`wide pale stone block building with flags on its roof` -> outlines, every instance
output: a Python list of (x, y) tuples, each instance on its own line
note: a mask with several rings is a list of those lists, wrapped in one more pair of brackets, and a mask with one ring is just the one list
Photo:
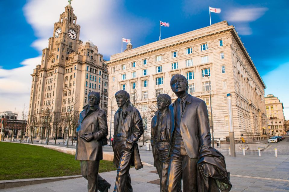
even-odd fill
[[(112, 116), (118, 109), (115, 92), (128, 91), (132, 104), (143, 116), (146, 139), (150, 137), (150, 122), (157, 110), (156, 97), (167, 93), (172, 101), (177, 98), (170, 87), (175, 74), (184, 75), (189, 81), (188, 92), (206, 102), (210, 120), (212, 105), (215, 140), (229, 137), (228, 93), (232, 94), (235, 140), (240, 140), (241, 134), (248, 141), (268, 137), (266, 86), (234, 26), (226, 21), (134, 49), (129, 45), (125, 52), (111, 55), (106, 64)], [(110, 110), (109, 105), (108, 119)]]

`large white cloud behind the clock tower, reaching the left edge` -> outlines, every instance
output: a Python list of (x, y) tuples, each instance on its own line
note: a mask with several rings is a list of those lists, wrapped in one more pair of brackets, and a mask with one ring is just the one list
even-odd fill
[[(48, 46), (54, 23), (59, 21), (59, 15), (67, 4), (67, 0), (30, 0), (24, 5), (24, 16), (37, 38), (31, 46), (40, 54)], [(134, 40), (143, 38), (153, 26), (149, 20), (126, 10), (121, 1), (79, 0), (72, 1), (72, 6), (77, 24), (81, 26), (80, 39), (92, 41), (106, 58), (120, 52), (121, 37), (131, 38), (134, 45)], [(21, 111), (24, 103), (29, 104), (30, 74), (40, 62), (41, 56), (25, 59), (21, 62), (23, 67), (11, 70), (0, 66), (0, 111), (12, 111), (15, 107)]]

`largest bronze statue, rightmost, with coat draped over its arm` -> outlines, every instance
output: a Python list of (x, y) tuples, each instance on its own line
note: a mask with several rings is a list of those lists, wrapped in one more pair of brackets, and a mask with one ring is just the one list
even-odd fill
[[(189, 88), (188, 80), (183, 75), (174, 75), (170, 84), (172, 91), (177, 95), (177, 100), (169, 106), (171, 130), (168, 155), (171, 159), (168, 170), (167, 190), (168, 192), (176, 192), (179, 188), (180, 180), (183, 179), (184, 192), (198, 191), (198, 187), (203, 189), (200, 191), (217, 191), (218, 189), (215, 187), (209, 188), (215, 182), (215, 180), (212, 182), (212, 177), (210, 176), (216, 176), (213, 170), (217, 172), (216, 169), (218, 167), (226, 166), (225, 161), (218, 161), (219, 157), (215, 153), (217, 150), (213, 151), (210, 149), (211, 134), (206, 103), (187, 93)], [(199, 154), (202, 155), (199, 156)], [(209, 156), (210, 159), (208, 160)], [(206, 157), (205, 160), (203, 159), (204, 157)], [(199, 162), (198, 159), (200, 160)], [(209, 165), (209, 162), (212, 162), (215, 166)], [(202, 170), (206, 170), (203, 178), (200, 173)], [(228, 176), (226, 169), (224, 176)], [(202, 180), (205, 177), (210, 179), (205, 182)], [(226, 181), (228, 182), (228, 180)], [(222, 180), (221, 182), (224, 181)], [(229, 187), (230, 183), (218, 186), (225, 186), (225, 188), (227, 186), (226, 190), (231, 189)]]

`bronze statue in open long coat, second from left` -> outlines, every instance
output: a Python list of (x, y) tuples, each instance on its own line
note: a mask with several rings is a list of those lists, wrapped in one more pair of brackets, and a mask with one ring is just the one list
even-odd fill
[(140, 112), (130, 105), (130, 95), (127, 91), (120, 90), (115, 93), (118, 110), (114, 118), (114, 138), (112, 149), (113, 162), (117, 167), (117, 176), (114, 192), (132, 192), (130, 179), (130, 166), (141, 169), (137, 141), (143, 134), (143, 120)]

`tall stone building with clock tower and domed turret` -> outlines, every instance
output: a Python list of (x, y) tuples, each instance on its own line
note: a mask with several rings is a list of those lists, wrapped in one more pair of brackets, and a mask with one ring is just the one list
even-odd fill
[[(107, 112), (108, 70), (103, 55), (91, 41), (79, 39), (80, 25), (73, 10), (67, 5), (54, 23), (48, 47), (31, 74), (27, 134), (38, 139), (66, 137), (91, 91), (100, 93), (100, 107)], [(75, 133), (71, 130), (69, 135)]]

